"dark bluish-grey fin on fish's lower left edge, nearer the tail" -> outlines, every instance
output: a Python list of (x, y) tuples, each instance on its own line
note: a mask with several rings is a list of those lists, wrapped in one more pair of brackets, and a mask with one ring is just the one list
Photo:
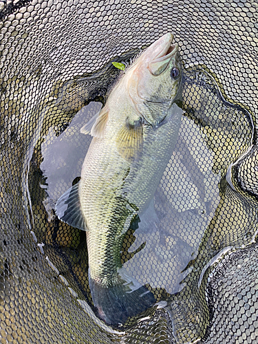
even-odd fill
[(80, 208), (80, 200), (78, 195), (79, 184), (68, 189), (56, 203), (56, 215), (63, 222), (70, 226), (87, 230), (85, 217)]

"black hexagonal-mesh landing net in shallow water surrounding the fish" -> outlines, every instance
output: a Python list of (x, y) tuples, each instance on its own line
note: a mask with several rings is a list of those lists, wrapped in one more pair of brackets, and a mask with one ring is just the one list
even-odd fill
[[(0, 1), (1, 343), (258, 343), (257, 8)], [(129, 65), (166, 32), (184, 116), (158, 226), (132, 226), (121, 251), (158, 305), (114, 328), (94, 312), (85, 232), (54, 204), (78, 182), (91, 140), (80, 127), (120, 76), (111, 61)]]

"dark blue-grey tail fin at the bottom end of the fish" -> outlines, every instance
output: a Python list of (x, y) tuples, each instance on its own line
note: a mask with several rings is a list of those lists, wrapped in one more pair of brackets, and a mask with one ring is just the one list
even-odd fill
[[(120, 269), (122, 270), (122, 269)], [(125, 323), (131, 316), (136, 316), (155, 303), (155, 297), (135, 280), (105, 288), (89, 277), (89, 288), (98, 316), (109, 325)]]

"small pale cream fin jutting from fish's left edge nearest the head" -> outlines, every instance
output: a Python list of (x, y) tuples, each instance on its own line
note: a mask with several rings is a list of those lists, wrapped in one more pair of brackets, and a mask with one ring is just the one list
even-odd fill
[(103, 138), (107, 123), (109, 109), (105, 106), (89, 122), (87, 122), (81, 129), (81, 133), (90, 133), (95, 138)]

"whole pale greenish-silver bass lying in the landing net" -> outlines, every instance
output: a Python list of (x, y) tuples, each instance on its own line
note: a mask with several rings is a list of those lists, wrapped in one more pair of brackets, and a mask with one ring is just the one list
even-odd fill
[(89, 288), (98, 316), (109, 325), (155, 303), (122, 267), (120, 251), (130, 224), (155, 215), (149, 207), (178, 138), (182, 61), (172, 42), (167, 33), (147, 47), (82, 127), (93, 139), (80, 182), (56, 203), (59, 219), (86, 231)]

